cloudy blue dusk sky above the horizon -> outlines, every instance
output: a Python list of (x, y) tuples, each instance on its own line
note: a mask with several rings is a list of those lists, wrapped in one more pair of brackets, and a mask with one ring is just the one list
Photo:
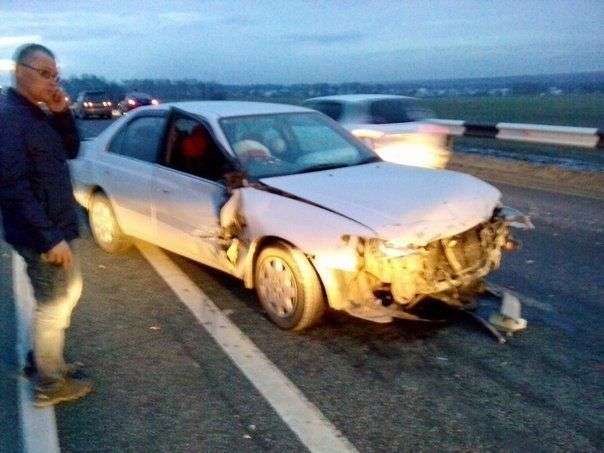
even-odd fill
[(0, 1), (0, 84), (40, 42), (66, 76), (227, 84), (604, 70), (602, 0)]

